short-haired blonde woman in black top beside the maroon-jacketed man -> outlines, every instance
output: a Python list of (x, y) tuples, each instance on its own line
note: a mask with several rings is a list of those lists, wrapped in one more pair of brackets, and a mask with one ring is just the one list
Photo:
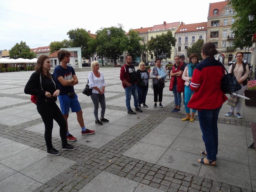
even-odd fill
[(137, 92), (138, 92), (138, 107), (141, 108), (141, 104), (143, 104), (144, 107), (148, 107), (146, 105), (146, 96), (148, 94), (148, 78), (149, 74), (145, 70), (145, 63), (141, 62), (139, 64), (139, 69), (136, 71), (136, 76), (138, 78), (138, 82), (136, 84)]

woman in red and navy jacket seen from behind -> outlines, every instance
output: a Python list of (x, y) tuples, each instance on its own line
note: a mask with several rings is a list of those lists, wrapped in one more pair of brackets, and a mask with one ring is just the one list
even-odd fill
[(224, 73), (222, 64), (214, 58), (218, 51), (211, 42), (202, 47), (202, 63), (196, 66), (190, 83), (195, 91), (188, 107), (198, 110), (198, 119), (206, 151), (200, 154), (207, 158), (198, 159), (203, 165), (216, 166), (218, 154), (218, 114), (222, 104), (228, 99), (221, 90)]

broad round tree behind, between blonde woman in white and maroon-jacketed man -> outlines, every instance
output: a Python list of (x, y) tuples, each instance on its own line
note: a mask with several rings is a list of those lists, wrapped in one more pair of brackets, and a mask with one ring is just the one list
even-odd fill
[(114, 60), (124, 53), (127, 48), (128, 37), (125, 35), (122, 25), (118, 27), (102, 28), (96, 32), (96, 52)]

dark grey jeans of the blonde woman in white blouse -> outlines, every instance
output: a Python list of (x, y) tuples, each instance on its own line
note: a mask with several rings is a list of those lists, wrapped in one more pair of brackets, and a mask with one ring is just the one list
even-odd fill
[(100, 103), (100, 107), (101, 107), (100, 117), (104, 118), (105, 110), (106, 110), (105, 95), (104, 94), (100, 95), (98, 93), (92, 93), (91, 98), (92, 98), (92, 102), (94, 104), (93, 114), (94, 114), (95, 120), (99, 120), (99, 118), (98, 118), (99, 103)]

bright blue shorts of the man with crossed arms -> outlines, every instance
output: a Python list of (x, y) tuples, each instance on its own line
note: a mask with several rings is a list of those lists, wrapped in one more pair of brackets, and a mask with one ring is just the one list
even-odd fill
[(72, 112), (78, 112), (81, 110), (80, 103), (78, 102), (77, 95), (74, 98), (69, 98), (68, 95), (59, 95), (58, 96), (60, 101), (60, 109), (62, 114), (68, 114), (69, 108), (71, 108)]

